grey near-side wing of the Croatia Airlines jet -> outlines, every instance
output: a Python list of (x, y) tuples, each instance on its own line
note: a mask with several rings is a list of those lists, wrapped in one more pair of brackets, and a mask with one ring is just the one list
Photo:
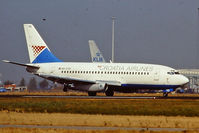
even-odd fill
[(105, 83), (107, 85), (112, 86), (121, 86), (121, 83), (118, 81), (102, 81), (102, 80), (83, 80), (79, 78), (72, 78), (72, 77), (62, 77), (62, 76), (54, 76), (54, 75), (45, 75), (45, 74), (38, 74), (38, 76), (42, 78), (46, 78), (48, 80), (61, 83), (61, 84), (97, 84), (97, 83)]

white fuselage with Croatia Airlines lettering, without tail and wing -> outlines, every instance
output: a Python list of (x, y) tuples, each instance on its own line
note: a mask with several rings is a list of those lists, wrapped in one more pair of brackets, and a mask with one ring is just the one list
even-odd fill
[(137, 63), (39, 63), (35, 74), (48, 74), (89, 81), (118, 81), (121, 87), (177, 88), (188, 82), (175, 69)]

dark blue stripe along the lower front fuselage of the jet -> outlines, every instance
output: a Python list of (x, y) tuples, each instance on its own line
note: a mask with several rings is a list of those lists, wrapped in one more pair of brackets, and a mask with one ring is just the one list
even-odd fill
[(170, 89), (170, 88), (178, 88), (179, 85), (122, 84), (122, 87)]

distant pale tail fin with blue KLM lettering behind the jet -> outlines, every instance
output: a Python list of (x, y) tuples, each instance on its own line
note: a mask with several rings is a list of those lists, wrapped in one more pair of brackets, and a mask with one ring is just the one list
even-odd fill
[(106, 62), (95, 41), (89, 40), (89, 47), (91, 53), (92, 62)]

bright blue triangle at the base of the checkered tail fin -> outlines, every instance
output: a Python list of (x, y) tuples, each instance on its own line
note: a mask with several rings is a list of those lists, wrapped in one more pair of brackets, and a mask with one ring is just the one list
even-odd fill
[(62, 62), (55, 57), (47, 48), (42, 51), (32, 63)]

